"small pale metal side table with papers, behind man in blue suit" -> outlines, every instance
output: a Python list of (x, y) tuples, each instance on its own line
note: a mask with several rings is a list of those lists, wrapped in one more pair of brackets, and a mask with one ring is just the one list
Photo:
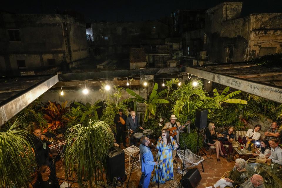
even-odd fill
[[(138, 167), (141, 169), (141, 163), (140, 163), (140, 153), (139, 153), (139, 148), (132, 145), (130, 146), (132, 148), (132, 151), (129, 152), (127, 149), (123, 149), (124, 154), (125, 154), (125, 163), (128, 162), (128, 167), (125, 169), (125, 172), (127, 174), (130, 174), (131, 170), (132, 170), (132, 166), (135, 165), (135, 168)], [(132, 157), (135, 157), (137, 159), (137, 161), (133, 162)]]

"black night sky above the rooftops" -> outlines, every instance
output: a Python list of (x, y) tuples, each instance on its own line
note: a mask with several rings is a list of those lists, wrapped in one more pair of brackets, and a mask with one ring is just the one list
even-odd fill
[[(18, 0), (16, 0), (18, 1)], [(85, 16), (85, 20), (107, 21), (142, 21), (157, 20), (169, 16), (175, 10), (206, 9), (223, 2), (223, 0), (6, 0), (2, 11), (20, 14), (54, 14), (56, 9), (76, 10)], [(243, 0), (242, 16), (251, 13), (282, 12), (282, 0)]]

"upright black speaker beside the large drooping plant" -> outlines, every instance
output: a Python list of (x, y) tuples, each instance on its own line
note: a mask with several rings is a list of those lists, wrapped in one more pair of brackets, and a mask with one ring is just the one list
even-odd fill
[(107, 157), (107, 178), (113, 182), (114, 177), (125, 176), (124, 151), (119, 147), (113, 147)]

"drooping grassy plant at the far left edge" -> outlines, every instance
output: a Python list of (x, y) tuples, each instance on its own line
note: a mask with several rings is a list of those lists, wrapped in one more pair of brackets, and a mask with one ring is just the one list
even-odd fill
[(27, 141), (27, 132), (18, 128), (24, 116), (17, 118), (6, 132), (0, 132), (0, 187), (29, 187), (36, 161)]

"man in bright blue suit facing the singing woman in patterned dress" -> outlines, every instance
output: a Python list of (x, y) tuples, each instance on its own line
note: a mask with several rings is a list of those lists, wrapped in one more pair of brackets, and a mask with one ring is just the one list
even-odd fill
[(141, 156), (142, 175), (138, 187), (148, 188), (152, 171), (154, 169), (154, 166), (157, 165), (157, 162), (154, 161), (154, 156), (150, 148), (148, 147), (150, 140), (147, 137), (143, 136), (142, 138), (140, 138), (140, 142), (141, 144), (139, 146), (139, 149)]

